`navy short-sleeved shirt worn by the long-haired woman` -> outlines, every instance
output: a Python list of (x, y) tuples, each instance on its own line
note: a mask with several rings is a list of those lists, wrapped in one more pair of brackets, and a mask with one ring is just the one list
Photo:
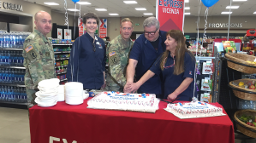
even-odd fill
[[(188, 52), (185, 54), (184, 59), (185, 71), (182, 72), (180, 75), (173, 74), (175, 66), (168, 67), (174, 63), (174, 59), (170, 56), (170, 54), (164, 64), (165, 68), (163, 71), (160, 68), (161, 57), (159, 57), (158, 60), (156, 60), (156, 62), (154, 63), (154, 65), (151, 67), (150, 71), (154, 72), (157, 75), (160, 75), (160, 73), (162, 73), (163, 75), (164, 99), (166, 99), (169, 94), (173, 93), (181, 85), (181, 83), (186, 77), (194, 78), (195, 60), (191, 58)], [(179, 94), (177, 96), (177, 98), (179, 98), (177, 100), (190, 100), (193, 97), (193, 83), (194, 80), (192, 83), (190, 83), (188, 89), (184, 90), (182, 94)], [(197, 96), (196, 89), (194, 95)]]

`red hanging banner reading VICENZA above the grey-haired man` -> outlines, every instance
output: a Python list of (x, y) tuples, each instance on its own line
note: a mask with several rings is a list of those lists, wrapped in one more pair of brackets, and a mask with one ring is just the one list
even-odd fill
[(184, 7), (184, 0), (157, 0), (156, 17), (160, 22), (160, 30), (183, 31)]

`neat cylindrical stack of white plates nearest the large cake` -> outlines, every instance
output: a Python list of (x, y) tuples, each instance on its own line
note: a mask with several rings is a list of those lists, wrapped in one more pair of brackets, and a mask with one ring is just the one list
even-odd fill
[(65, 101), (68, 105), (80, 105), (83, 100), (83, 84), (77, 82), (65, 83)]

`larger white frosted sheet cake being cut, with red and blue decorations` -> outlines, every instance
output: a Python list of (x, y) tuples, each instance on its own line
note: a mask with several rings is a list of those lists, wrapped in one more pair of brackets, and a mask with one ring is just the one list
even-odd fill
[(155, 94), (124, 94), (112, 91), (97, 94), (87, 104), (87, 108), (93, 109), (156, 112), (159, 100)]

